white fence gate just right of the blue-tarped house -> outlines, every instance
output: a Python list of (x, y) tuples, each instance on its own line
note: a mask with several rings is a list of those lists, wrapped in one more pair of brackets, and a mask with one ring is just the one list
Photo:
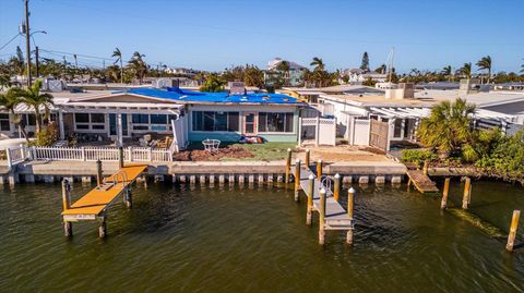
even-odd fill
[(336, 145), (336, 119), (300, 118), (298, 145), (302, 144), (302, 127), (314, 126), (314, 145)]

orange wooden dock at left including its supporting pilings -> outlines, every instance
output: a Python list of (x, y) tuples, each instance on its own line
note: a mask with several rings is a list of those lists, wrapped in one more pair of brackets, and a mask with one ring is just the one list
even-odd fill
[[(62, 211), (66, 235), (72, 234), (71, 222), (100, 221), (100, 236), (105, 236), (105, 221), (107, 208), (121, 195), (124, 194), (124, 203), (131, 207), (131, 184), (146, 172), (146, 164), (128, 164), (118, 172), (106, 178), (91, 192), (82, 196), (74, 204), (68, 203), (69, 191), (64, 187), (64, 207)], [(68, 184), (66, 182), (66, 184)]]

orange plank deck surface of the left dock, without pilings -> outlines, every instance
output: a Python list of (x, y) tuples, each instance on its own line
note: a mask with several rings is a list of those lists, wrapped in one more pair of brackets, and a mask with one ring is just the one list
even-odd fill
[(147, 169), (146, 164), (130, 164), (106, 178), (102, 186), (82, 196), (62, 212), (64, 221), (96, 220), (120, 194)]

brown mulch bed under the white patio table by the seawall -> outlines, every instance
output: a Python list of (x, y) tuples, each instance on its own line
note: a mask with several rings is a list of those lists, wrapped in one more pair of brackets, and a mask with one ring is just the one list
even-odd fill
[(218, 149), (218, 151), (210, 152), (203, 149), (184, 150), (176, 154), (176, 161), (219, 161), (222, 158), (252, 158), (254, 157), (249, 150), (241, 147), (228, 146)]

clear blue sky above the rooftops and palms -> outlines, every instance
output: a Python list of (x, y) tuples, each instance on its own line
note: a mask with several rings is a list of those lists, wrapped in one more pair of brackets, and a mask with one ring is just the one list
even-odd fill
[[(524, 0), (29, 0), (34, 41), (40, 56), (98, 66), (120, 48), (147, 63), (221, 71), (231, 65), (265, 69), (275, 57), (329, 70), (454, 69), (491, 56), (493, 72), (524, 63)], [(0, 47), (19, 32), (23, 0), (0, 0)], [(8, 59), (25, 50), (16, 37), (0, 50)], [(64, 52), (64, 53), (62, 53)], [(88, 57), (98, 58), (88, 58)]]

